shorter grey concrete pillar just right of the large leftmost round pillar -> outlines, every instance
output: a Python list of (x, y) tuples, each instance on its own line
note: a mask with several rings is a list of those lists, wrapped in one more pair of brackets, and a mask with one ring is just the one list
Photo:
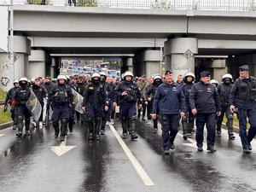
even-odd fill
[(31, 50), (29, 60), (29, 78), (44, 77), (46, 66), (46, 55), (44, 50)]

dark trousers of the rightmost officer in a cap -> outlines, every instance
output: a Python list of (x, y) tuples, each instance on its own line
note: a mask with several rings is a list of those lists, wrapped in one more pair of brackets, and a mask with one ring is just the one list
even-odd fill
[[(247, 133), (247, 118), (249, 119), (250, 129)], [(240, 109), (238, 108), (239, 136), (241, 138), (242, 148), (248, 148), (250, 142), (256, 136), (256, 108)]]

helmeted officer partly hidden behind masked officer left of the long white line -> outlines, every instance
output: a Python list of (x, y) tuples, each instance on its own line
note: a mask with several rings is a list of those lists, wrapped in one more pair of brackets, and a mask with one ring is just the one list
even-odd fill
[(108, 93), (108, 102), (109, 102), (109, 110), (103, 110), (102, 114), (102, 127), (101, 127), (101, 135), (105, 135), (105, 126), (108, 121), (110, 122), (110, 109), (111, 109), (111, 104), (113, 101), (113, 90), (110, 84), (108, 84), (107, 80), (107, 74), (104, 72), (100, 73), (101, 75), (101, 84), (103, 85), (104, 89), (107, 90)]

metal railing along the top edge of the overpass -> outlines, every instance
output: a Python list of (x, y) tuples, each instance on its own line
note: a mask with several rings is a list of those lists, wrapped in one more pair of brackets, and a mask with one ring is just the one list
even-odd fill
[[(256, 0), (13, 0), (14, 4), (106, 7), (116, 9), (170, 9), (256, 11)], [(0, 0), (8, 5), (10, 0)]]

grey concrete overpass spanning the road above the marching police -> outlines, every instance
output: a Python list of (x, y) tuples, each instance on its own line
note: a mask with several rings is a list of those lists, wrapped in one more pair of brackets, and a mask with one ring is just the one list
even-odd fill
[[(133, 61), (129, 60), (134, 72), (150, 75), (160, 72), (163, 42), (166, 68), (175, 73), (194, 71), (196, 55), (232, 57), (252, 55), (256, 49), (253, 12), (40, 5), (13, 8), (15, 52), (24, 58), (15, 62), (20, 72), (15, 76), (50, 73), (49, 67), (53, 70), (55, 65), (49, 54), (134, 54)], [(156, 44), (145, 43), (155, 39)], [(29, 47), (32, 51), (24, 49)], [(252, 59), (247, 62), (253, 63)], [(223, 70), (226, 65), (211, 67)]]

